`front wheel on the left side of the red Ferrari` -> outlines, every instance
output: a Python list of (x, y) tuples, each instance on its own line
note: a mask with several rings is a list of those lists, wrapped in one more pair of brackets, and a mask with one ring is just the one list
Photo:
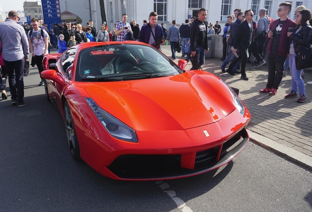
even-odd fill
[(73, 159), (80, 160), (80, 149), (78, 138), (75, 132), (74, 122), (72, 118), (72, 113), (67, 101), (64, 104), (64, 122), (65, 122), (65, 130), (68, 141), (69, 150)]

